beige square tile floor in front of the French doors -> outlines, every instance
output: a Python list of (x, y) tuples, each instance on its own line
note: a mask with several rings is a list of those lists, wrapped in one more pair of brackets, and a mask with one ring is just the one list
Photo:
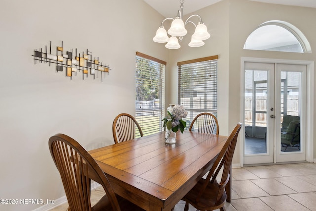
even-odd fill
[[(316, 163), (232, 169), (232, 202), (227, 211), (316, 211)], [(93, 200), (104, 191), (92, 191)], [(183, 211), (180, 201), (174, 211)], [(51, 211), (66, 211), (67, 203)], [(192, 206), (189, 211), (196, 211)], [(216, 210), (218, 211), (218, 210)]]

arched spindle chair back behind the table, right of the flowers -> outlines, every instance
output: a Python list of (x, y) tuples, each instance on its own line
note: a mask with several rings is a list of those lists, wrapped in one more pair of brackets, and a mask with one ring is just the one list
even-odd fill
[(218, 135), (217, 118), (211, 113), (200, 113), (192, 120), (189, 131)]

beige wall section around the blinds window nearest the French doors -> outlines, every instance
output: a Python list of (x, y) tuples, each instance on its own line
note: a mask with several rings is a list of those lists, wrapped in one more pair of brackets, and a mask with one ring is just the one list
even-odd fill
[[(185, 36), (182, 42), (180, 42), (181, 48), (179, 50), (170, 51), (170, 65), (168, 65), (168, 71), (166, 76), (170, 77), (167, 81), (166, 90), (169, 90), (172, 103), (178, 102), (178, 67), (177, 62), (186, 61), (196, 58), (202, 58), (207, 56), (218, 55), (218, 121), (220, 124), (220, 134), (228, 134), (228, 74), (229, 74), (229, 2), (221, 1), (212, 6), (206, 7), (202, 10), (195, 12), (202, 17), (202, 21), (206, 24), (211, 37), (205, 40), (205, 45), (198, 48), (189, 47), (188, 44), (191, 39), (191, 35), (194, 32), (194, 28), (190, 28), (188, 25), (188, 34)], [(185, 8), (184, 8), (185, 9)], [(188, 14), (185, 18), (189, 17)], [(198, 22), (199, 19), (192, 19)], [(191, 31), (190, 31), (191, 29)], [(167, 91), (166, 91), (167, 92)]]

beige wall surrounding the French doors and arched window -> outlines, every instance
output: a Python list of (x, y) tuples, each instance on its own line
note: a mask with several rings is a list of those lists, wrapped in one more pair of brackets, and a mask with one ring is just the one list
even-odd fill
[[(265, 4), (244, 0), (230, 0), (230, 35), (229, 35), (229, 118), (228, 127), (233, 128), (240, 120), (240, 77), (241, 57), (307, 60), (316, 58), (316, 27), (313, 20), (316, 18), (315, 8), (297, 6), (283, 6)], [(293, 24), (307, 37), (312, 47), (312, 53), (286, 53), (243, 50), (243, 45), (249, 34), (260, 24), (270, 20), (281, 20)], [(313, 70), (314, 71), (314, 70)], [(315, 74), (314, 74), (315, 76)], [(313, 80), (313, 82), (315, 79)], [(315, 86), (314, 86), (315, 89)], [(315, 93), (313, 91), (312, 93)], [(315, 100), (315, 99), (314, 99)], [(314, 103), (315, 110), (315, 103)], [(315, 116), (313, 118), (315, 122)], [(242, 120), (240, 120), (242, 121)], [(315, 127), (315, 126), (314, 126)], [(311, 131), (314, 129), (311, 128)], [(315, 143), (314, 138), (314, 143)], [(309, 141), (309, 140), (306, 140)], [(240, 144), (240, 143), (239, 143)], [(240, 148), (236, 147), (233, 163), (240, 163)], [(314, 144), (314, 158), (316, 150)]]

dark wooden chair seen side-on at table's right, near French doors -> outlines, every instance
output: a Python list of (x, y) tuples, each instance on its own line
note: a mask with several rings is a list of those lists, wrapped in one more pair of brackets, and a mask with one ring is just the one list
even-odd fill
[[(196, 209), (201, 211), (209, 211), (220, 209), (224, 211), (224, 203), (226, 201), (225, 186), (230, 178), (230, 170), (232, 158), (237, 142), (237, 137), (242, 124), (238, 123), (222, 150), (216, 158), (207, 177), (201, 178), (197, 184), (182, 198), (186, 202), (184, 210), (188, 211), (189, 203)], [(218, 173), (222, 170), (222, 175)], [(216, 177), (219, 176), (220, 182), (217, 182)]]

